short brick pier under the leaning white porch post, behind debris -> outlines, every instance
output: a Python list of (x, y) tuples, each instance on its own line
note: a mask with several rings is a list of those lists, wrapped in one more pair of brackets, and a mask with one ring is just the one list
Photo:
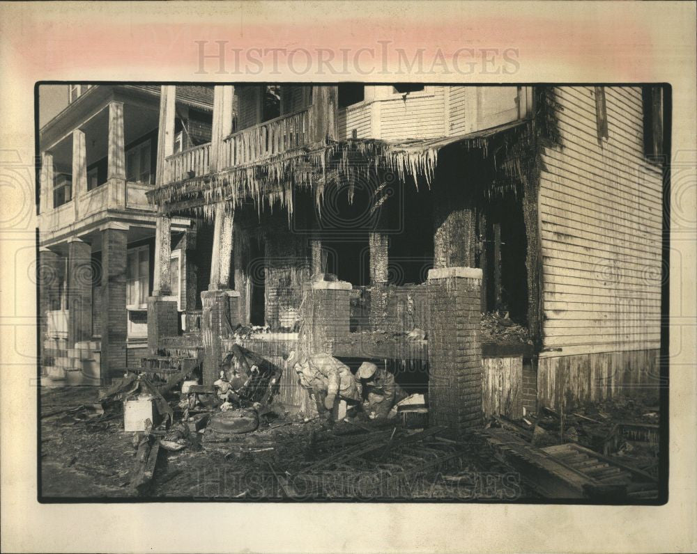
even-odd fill
[(218, 378), (224, 356), (222, 339), (227, 338), (240, 323), (240, 293), (234, 290), (201, 292), (201, 341), (204, 344), (204, 384)]

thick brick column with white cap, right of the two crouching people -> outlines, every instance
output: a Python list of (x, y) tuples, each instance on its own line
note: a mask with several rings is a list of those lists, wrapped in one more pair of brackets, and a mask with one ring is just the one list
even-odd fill
[(429, 271), (429, 424), (454, 436), (483, 421), (481, 285), (481, 269)]

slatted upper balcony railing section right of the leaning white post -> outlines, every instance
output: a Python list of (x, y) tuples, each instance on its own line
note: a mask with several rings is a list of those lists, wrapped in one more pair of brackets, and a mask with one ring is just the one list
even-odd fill
[(224, 139), (221, 167), (231, 168), (308, 145), (310, 107), (247, 127)]

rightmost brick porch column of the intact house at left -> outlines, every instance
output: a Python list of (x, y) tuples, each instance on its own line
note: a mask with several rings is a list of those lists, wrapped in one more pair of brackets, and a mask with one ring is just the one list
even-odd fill
[(126, 244), (128, 230), (102, 230), (102, 383), (126, 367)]

